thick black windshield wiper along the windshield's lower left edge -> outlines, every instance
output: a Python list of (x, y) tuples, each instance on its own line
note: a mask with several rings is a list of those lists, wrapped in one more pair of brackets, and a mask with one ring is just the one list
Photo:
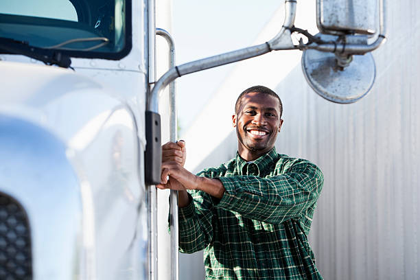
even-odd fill
[(0, 37), (0, 50), (8, 51), (10, 54), (21, 54), (44, 62), (46, 65), (57, 65), (69, 68), (71, 60), (69, 56), (63, 55), (56, 49), (44, 49), (31, 46), (26, 41), (14, 40), (12, 38)]

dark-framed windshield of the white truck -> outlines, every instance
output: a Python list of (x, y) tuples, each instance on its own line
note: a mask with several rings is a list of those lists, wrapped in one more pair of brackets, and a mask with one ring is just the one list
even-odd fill
[(131, 47), (129, 4), (130, 0), (1, 0), (0, 37), (68, 56), (121, 58)]

